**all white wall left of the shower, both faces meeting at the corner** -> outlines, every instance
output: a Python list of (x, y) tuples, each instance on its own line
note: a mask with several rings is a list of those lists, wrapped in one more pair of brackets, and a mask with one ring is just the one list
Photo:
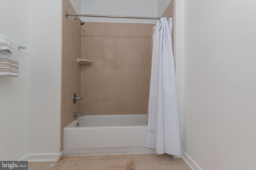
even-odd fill
[(2, 0), (0, 15), (0, 33), (26, 47), (19, 77), (0, 76), (0, 160), (58, 159), (61, 0)]

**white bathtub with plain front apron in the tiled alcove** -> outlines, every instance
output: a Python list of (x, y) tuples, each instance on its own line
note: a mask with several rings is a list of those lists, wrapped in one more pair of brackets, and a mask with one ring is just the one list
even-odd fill
[(64, 154), (156, 153), (146, 131), (147, 115), (86, 115), (64, 127)]

